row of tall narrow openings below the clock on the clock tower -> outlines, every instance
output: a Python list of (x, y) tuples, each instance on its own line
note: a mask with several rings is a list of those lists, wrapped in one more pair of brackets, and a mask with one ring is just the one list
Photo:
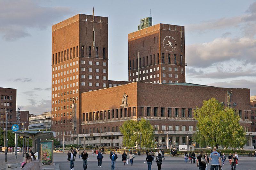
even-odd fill
[[(141, 57), (139, 58), (139, 63), (138, 63), (138, 58), (135, 60), (129, 60), (129, 70), (134, 70), (142, 68), (142, 67), (147, 67), (155, 64), (160, 63), (160, 56), (159, 53), (154, 54), (153, 58), (152, 55), (146, 56), (146, 57)], [(168, 63), (168, 64), (180, 64), (183, 65), (183, 55), (177, 56), (176, 54), (173, 55), (173, 61), (172, 61), (172, 56), (171, 54), (168, 54), (168, 61), (165, 61), (165, 54), (162, 53), (162, 62), (161, 63)]]

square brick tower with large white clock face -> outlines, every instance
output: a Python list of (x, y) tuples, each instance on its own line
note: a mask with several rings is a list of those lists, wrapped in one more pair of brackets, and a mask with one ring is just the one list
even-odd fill
[(185, 83), (184, 38), (184, 26), (169, 24), (129, 33), (129, 82)]

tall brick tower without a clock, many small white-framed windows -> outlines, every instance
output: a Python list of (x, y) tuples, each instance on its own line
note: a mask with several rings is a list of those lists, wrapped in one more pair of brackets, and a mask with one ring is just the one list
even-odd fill
[(60, 135), (64, 130), (66, 144), (81, 133), (81, 93), (126, 83), (108, 80), (107, 17), (93, 11), (52, 26), (52, 131)]

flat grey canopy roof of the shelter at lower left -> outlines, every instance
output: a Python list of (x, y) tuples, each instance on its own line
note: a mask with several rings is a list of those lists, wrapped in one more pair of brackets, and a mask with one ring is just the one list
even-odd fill
[(12, 132), (12, 133), (16, 133), (19, 136), (22, 137), (31, 137), (31, 138), (41, 138), (43, 140), (45, 139), (50, 139), (52, 137), (56, 137), (55, 132), (45, 132), (45, 131), (16, 131), (16, 132)]

